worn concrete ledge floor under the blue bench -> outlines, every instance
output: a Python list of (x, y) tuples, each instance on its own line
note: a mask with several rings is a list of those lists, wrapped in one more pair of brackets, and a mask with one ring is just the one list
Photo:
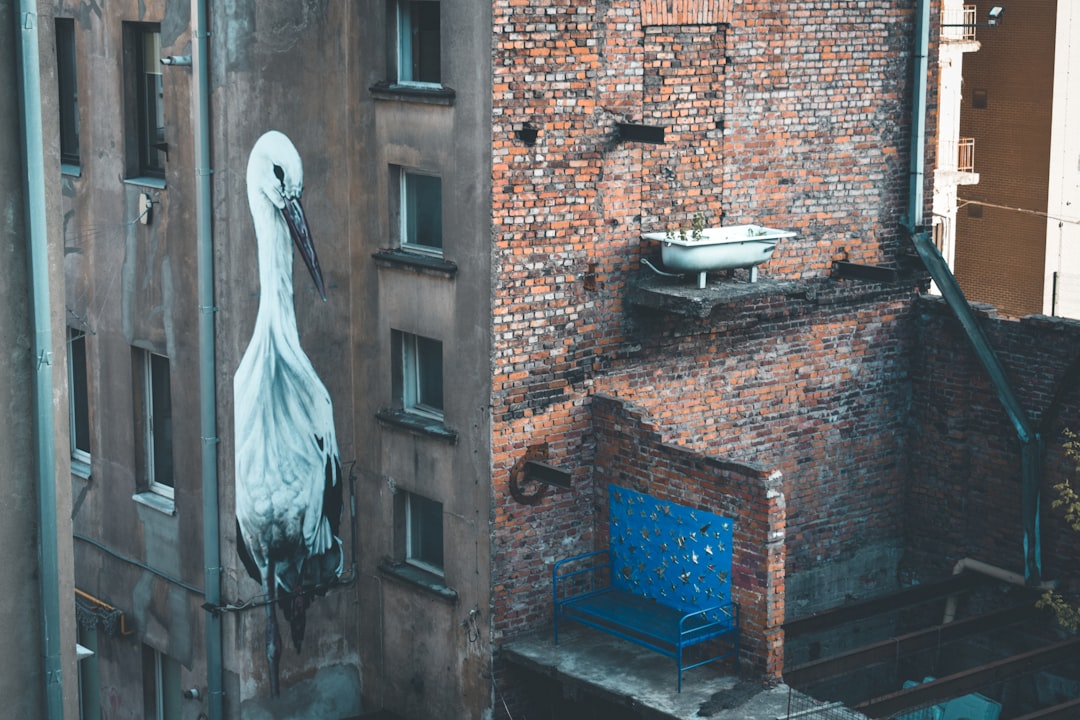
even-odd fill
[[(767, 688), (732, 674), (729, 661), (687, 670), (676, 692), (675, 661), (586, 627), (515, 639), (502, 647), (509, 662), (555, 679), (565, 696), (590, 695), (634, 708), (637, 717), (677, 720), (783, 720), (788, 688)], [(630, 716), (630, 714), (627, 714)], [(631, 716), (632, 717), (632, 716)], [(856, 717), (856, 716), (855, 716)]]

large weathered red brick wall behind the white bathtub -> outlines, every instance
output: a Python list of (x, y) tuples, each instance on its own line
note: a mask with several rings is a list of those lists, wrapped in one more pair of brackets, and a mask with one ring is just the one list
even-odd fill
[[(821, 281), (836, 259), (895, 259), (910, 3), (497, 0), (492, 11), (496, 642), (550, 621), (551, 562), (592, 549), (603, 527), (598, 383), (630, 393), (664, 443), (781, 468), (789, 569), (813, 543), (827, 554), (858, 542), (852, 517), (899, 535), (901, 300), (770, 301), (712, 329), (673, 335), (661, 322), (643, 338), (625, 298), (656, 249), (640, 233), (699, 213), (797, 230), (766, 275)], [(616, 122), (661, 126), (666, 141), (620, 141)], [(518, 138), (525, 127), (534, 145)], [(688, 405), (688, 388), (705, 394)], [(514, 468), (541, 444), (573, 488), (523, 504)], [(769, 613), (782, 602), (750, 606), (770, 608), (747, 621), (772, 668)]]

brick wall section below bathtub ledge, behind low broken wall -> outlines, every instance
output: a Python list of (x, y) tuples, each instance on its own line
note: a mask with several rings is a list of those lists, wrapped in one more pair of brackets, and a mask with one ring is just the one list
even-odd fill
[(910, 296), (815, 290), (643, 323), (639, 364), (596, 383), (647, 411), (665, 441), (780, 470), (788, 572), (903, 538)]

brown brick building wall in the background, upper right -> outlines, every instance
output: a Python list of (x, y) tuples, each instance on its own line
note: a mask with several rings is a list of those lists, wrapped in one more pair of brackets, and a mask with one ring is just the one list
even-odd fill
[[(984, 18), (999, 3), (973, 4)], [(982, 49), (963, 56), (960, 135), (975, 138), (978, 185), (961, 186), (959, 200), (1004, 207), (957, 213), (955, 272), (972, 300), (1025, 315), (1042, 312), (1047, 219), (1005, 208), (1047, 212), (1057, 0), (1015, 10), (999, 27), (978, 28)], [(975, 90), (986, 91), (985, 109), (973, 107)]]

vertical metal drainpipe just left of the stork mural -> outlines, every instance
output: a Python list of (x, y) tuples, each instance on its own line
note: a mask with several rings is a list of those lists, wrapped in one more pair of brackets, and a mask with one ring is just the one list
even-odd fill
[(211, 217), (208, 0), (191, 0), (195, 123), (195, 245), (199, 273), (199, 409), (202, 435), (203, 568), (206, 573), (206, 695), (210, 720), (221, 720), (221, 547), (217, 481), (217, 367), (214, 359), (214, 234)]

